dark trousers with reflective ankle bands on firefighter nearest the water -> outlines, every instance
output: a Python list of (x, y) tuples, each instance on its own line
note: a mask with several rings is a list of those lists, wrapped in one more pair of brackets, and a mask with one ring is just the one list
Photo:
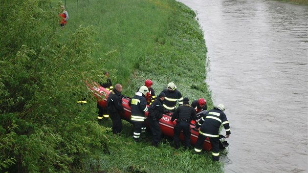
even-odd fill
[[(205, 138), (206, 136), (199, 133), (198, 139), (195, 145), (195, 151), (201, 152)], [(209, 137), (209, 139), (210, 139), (211, 146), (212, 146), (212, 158), (214, 161), (219, 161), (219, 143), (220, 143), (219, 137)]]

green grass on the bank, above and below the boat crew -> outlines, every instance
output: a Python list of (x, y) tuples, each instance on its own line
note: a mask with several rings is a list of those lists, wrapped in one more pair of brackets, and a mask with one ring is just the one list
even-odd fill
[[(56, 1), (52, 4), (56, 6)], [(74, 28), (92, 25), (96, 43), (93, 57), (102, 70), (109, 70), (113, 84), (123, 85), (132, 96), (146, 79), (159, 94), (174, 82), (191, 101), (204, 97), (213, 106), (206, 83), (206, 47), (196, 14), (174, 0), (66, 0), (69, 21), (64, 36)], [(95, 75), (95, 74), (93, 74)], [(110, 122), (102, 124), (111, 127)], [(219, 173), (220, 163), (211, 153), (175, 150), (164, 139), (150, 146), (151, 134), (138, 144), (132, 140), (132, 125), (124, 123), (120, 135), (106, 133), (109, 154), (95, 153), (86, 162), (93, 172), (108, 173)]]

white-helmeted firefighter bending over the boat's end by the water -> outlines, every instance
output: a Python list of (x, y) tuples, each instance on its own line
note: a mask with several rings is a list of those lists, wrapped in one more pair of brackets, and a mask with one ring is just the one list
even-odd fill
[[(212, 146), (212, 158), (214, 161), (219, 161), (220, 125), (222, 124), (226, 131), (226, 138), (228, 138), (231, 134), (229, 122), (223, 112), (224, 110), (224, 105), (219, 104), (214, 109), (207, 111), (196, 126), (199, 130), (199, 135), (196, 142), (195, 151), (200, 153), (202, 151), (204, 139), (209, 137)], [(201, 128), (199, 129), (200, 126)]]

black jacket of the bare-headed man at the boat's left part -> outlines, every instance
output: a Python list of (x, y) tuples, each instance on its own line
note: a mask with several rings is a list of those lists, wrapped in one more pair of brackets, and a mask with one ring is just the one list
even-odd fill
[(119, 93), (115, 88), (110, 92), (107, 99), (108, 112), (124, 111), (122, 106), (122, 97), (122, 94)]

